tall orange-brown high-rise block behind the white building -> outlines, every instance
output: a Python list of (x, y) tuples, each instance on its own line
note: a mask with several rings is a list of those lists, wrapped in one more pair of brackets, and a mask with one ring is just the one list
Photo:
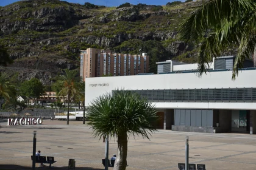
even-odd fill
[(80, 54), (80, 77), (137, 75), (148, 73), (149, 56), (111, 53), (110, 50), (87, 49)]

